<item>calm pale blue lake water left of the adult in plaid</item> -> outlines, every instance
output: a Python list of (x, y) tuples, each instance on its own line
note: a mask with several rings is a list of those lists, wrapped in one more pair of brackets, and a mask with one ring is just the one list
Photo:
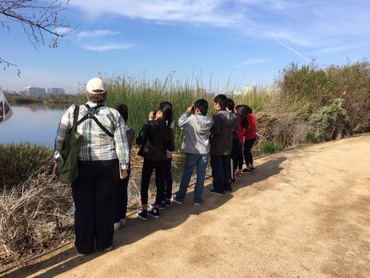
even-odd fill
[(0, 144), (32, 142), (54, 146), (60, 118), (68, 106), (12, 106), (12, 117), (0, 124)]

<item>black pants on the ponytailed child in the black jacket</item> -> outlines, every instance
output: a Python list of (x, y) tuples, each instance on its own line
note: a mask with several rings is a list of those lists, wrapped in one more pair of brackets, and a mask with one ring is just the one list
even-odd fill
[(148, 189), (151, 181), (151, 174), (155, 170), (155, 186), (157, 187), (157, 195), (155, 196), (155, 204), (160, 205), (165, 197), (165, 172), (167, 161), (149, 161), (144, 158), (142, 165), (142, 204), (148, 204)]

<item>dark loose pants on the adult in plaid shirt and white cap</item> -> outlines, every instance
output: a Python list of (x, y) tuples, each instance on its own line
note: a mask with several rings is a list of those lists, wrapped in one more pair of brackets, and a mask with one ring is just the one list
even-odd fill
[(78, 177), (72, 183), (75, 245), (88, 254), (112, 245), (115, 193), (119, 182), (119, 161), (78, 161)]

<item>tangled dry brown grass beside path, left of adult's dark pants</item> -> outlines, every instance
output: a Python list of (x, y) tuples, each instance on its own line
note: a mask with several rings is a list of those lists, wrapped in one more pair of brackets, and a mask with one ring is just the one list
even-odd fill
[(1, 263), (60, 244), (72, 236), (70, 187), (44, 168), (0, 195)]

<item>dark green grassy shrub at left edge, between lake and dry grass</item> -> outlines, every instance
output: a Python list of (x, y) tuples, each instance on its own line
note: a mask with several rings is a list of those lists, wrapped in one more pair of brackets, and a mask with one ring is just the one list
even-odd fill
[(0, 145), (1, 188), (18, 186), (40, 168), (51, 173), (52, 156), (51, 149), (31, 143)]

